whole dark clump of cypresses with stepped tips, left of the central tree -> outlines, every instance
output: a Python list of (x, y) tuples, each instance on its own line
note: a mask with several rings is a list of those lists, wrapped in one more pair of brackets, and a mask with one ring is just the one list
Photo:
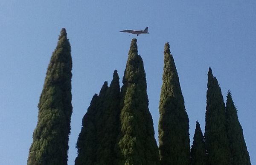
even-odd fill
[(117, 71), (108, 87), (105, 82), (84, 115), (77, 141), (75, 165), (114, 165), (119, 129), (120, 85)]

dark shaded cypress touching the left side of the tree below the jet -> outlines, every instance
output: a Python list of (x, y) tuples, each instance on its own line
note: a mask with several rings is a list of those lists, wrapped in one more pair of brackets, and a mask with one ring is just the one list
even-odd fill
[(116, 161), (115, 144), (119, 130), (120, 85), (117, 70), (107, 90), (102, 105), (102, 114), (97, 121), (97, 165), (114, 165)]

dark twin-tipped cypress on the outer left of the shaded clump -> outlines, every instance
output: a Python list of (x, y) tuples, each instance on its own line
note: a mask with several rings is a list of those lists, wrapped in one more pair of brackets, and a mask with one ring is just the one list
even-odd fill
[(97, 161), (97, 137), (98, 122), (102, 113), (102, 104), (108, 90), (108, 83), (105, 82), (99, 92), (99, 96), (95, 94), (92, 98), (90, 106), (82, 120), (82, 128), (79, 134), (76, 148), (77, 157), (75, 165), (95, 165)]

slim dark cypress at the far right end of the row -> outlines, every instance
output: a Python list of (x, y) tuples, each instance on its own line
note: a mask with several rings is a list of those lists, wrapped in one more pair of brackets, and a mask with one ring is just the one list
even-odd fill
[(236, 106), (230, 91), (227, 93), (226, 117), (232, 165), (251, 165), (250, 156), (244, 141), (243, 129), (238, 120)]

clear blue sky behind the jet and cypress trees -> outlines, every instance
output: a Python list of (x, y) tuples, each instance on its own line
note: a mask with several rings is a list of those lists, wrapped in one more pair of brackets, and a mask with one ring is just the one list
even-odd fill
[[(119, 31), (141, 30), (128, 35)], [(73, 114), (68, 165), (74, 164), (81, 121), (94, 93), (118, 70), (120, 82), (131, 39), (138, 39), (157, 139), (163, 48), (175, 59), (190, 140), (204, 131), (208, 67), (230, 89), (252, 165), (256, 165), (255, 0), (1, 0), (0, 164), (25, 165), (37, 123), (47, 65), (66, 28), (73, 56)]]

